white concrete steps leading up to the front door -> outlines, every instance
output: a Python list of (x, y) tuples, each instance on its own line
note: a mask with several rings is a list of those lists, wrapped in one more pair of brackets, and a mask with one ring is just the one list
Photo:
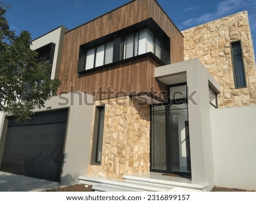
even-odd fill
[(184, 177), (168, 177), (151, 173), (149, 177), (123, 175), (123, 179), (80, 176), (80, 183), (93, 185), (96, 191), (207, 191), (208, 183), (191, 181)]

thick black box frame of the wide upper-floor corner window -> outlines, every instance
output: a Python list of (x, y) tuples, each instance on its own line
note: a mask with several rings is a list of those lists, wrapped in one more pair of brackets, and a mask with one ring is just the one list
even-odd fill
[[(155, 54), (156, 48), (154, 47), (154, 53), (147, 52), (147, 53), (138, 55), (137, 54), (138, 50), (136, 49), (136, 50), (133, 50), (133, 55), (135, 54), (136, 56), (124, 59), (123, 49), (125, 46), (124, 45), (125, 37), (129, 34), (135, 35), (135, 33), (139, 32), (143, 29), (148, 29), (150, 32), (152, 32), (152, 34), (154, 36), (154, 44), (156, 44), (155, 38), (160, 41), (160, 43), (158, 42), (158, 45), (161, 46), (162, 53), (159, 54), (159, 47), (158, 47), (158, 55), (156, 55)], [(138, 36), (136, 35), (135, 37), (139, 38), (139, 34), (138, 34)], [(109, 64), (104, 64), (104, 65), (98, 66), (98, 67), (93, 66), (93, 68), (86, 70), (85, 63), (86, 63), (87, 50), (96, 48), (98, 45), (101, 45), (101, 44), (106, 44), (108, 41), (113, 41), (113, 62), (109, 63)], [(139, 39), (138, 39), (138, 43), (136, 41), (133, 44), (134, 44), (133, 46), (135, 46), (135, 45), (138, 46), (137, 44), (139, 44)], [(133, 25), (123, 28), (119, 31), (109, 33), (108, 35), (102, 36), (98, 39), (88, 41), (85, 44), (81, 44), (80, 50), (79, 50), (79, 60), (78, 60), (78, 64), (77, 64), (77, 73), (79, 73), (79, 74), (84, 74), (87, 72), (89, 73), (92, 71), (105, 69), (106, 67), (109, 67), (109, 66), (113, 67), (114, 65), (119, 65), (124, 62), (130, 62), (133, 60), (137, 60), (139, 58), (143, 58), (146, 56), (151, 57), (154, 61), (158, 62), (158, 64), (160, 66), (171, 64), (171, 39), (163, 31), (163, 29), (161, 27), (159, 27), (158, 24), (156, 24), (156, 22), (152, 18), (143, 20), (142, 22), (133, 24)], [(105, 59), (104, 59), (104, 62), (105, 62)]]

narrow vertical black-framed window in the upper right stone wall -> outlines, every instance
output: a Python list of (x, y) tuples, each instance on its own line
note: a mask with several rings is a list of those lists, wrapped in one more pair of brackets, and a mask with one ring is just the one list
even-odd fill
[(246, 87), (245, 69), (243, 66), (243, 56), (241, 49), (241, 41), (231, 43), (232, 62), (234, 73), (234, 85), (236, 88)]

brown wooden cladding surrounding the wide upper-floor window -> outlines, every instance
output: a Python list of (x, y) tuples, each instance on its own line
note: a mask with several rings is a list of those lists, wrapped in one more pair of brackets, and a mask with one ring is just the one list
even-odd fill
[[(114, 91), (156, 91), (166, 90), (163, 83), (154, 78), (154, 67), (159, 66), (151, 57), (143, 57), (119, 65), (94, 70), (82, 75), (77, 73), (80, 45), (98, 39), (142, 20), (152, 18), (171, 39), (171, 63), (184, 60), (183, 36), (154, 0), (137, 0), (109, 12), (89, 23), (65, 33), (60, 74), (61, 91), (88, 91), (92, 94), (102, 86), (111, 86)], [(97, 98), (98, 99), (98, 98)]]

